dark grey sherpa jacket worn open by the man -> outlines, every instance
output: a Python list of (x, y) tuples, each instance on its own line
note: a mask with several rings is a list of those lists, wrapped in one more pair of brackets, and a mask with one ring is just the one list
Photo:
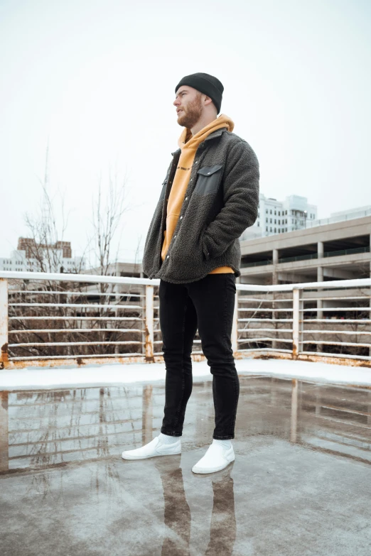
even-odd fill
[(200, 143), (195, 153), (181, 214), (161, 261), (166, 205), (181, 149), (172, 153), (149, 231), (143, 271), (174, 284), (200, 280), (218, 266), (241, 276), (242, 232), (257, 219), (259, 162), (249, 143), (222, 128)]

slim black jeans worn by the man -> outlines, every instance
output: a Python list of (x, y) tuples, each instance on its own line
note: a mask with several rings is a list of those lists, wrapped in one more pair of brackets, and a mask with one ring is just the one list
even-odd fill
[(185, 408), (192, 392), (193, 339), (201, 346), (213, 374), (213, 438), (235, 437), (240, 381), (231, 345), (235, 307), (235, 274), (208, 274), (185, 284), (160, 281), (160, 327), (166, 364), (165, 408), (161, 432), (181, 436)]

